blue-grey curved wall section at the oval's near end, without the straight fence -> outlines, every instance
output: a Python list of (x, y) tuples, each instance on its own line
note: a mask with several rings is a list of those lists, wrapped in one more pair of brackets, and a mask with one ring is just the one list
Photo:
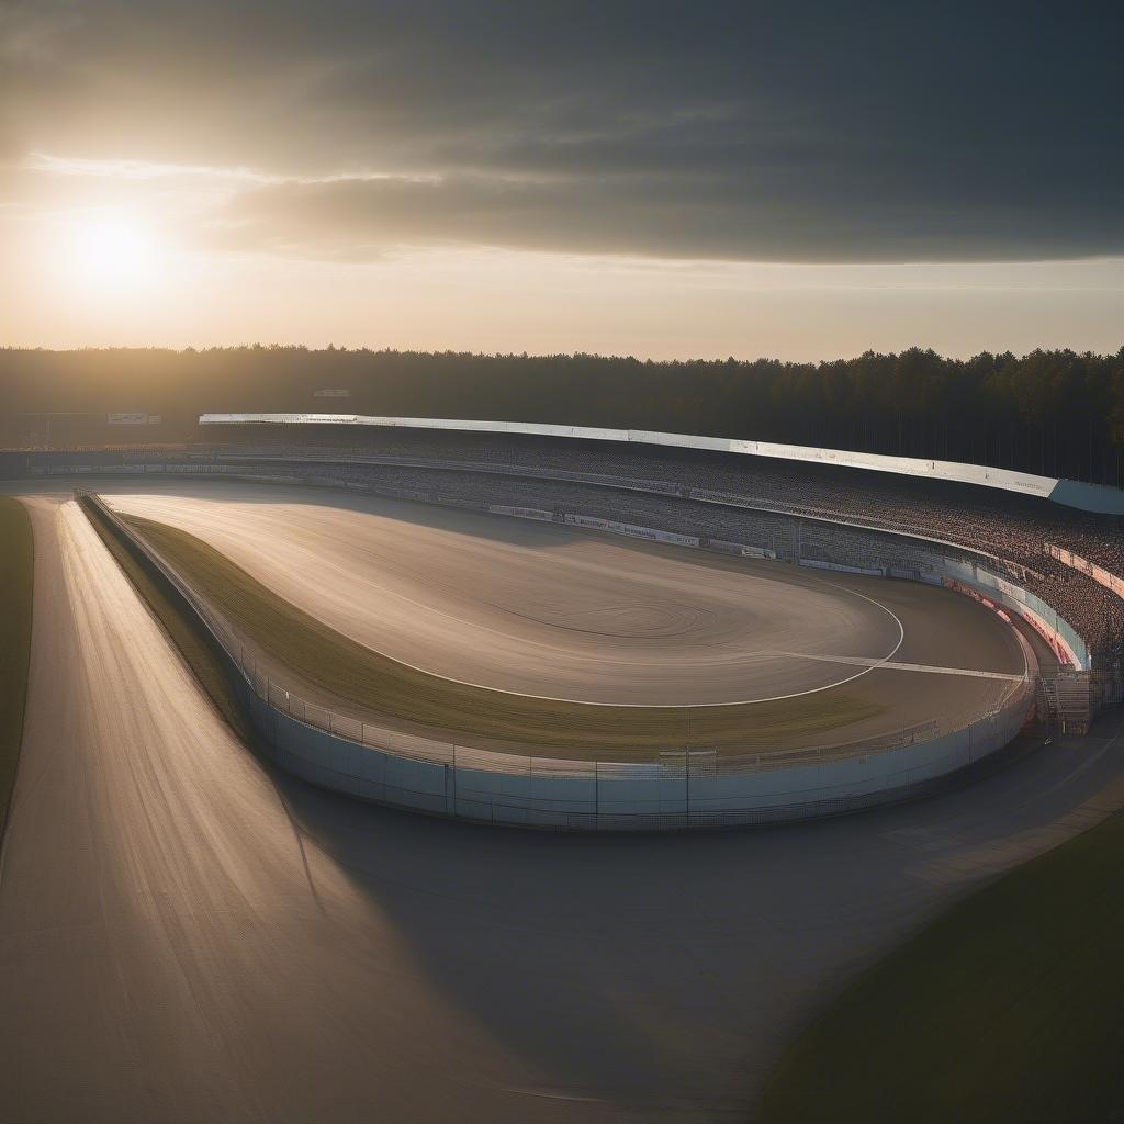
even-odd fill
[(455, 753), (448, 763), (399, 758), (300, 723), (248, 683), (242, 694), (273, 760), (312, 783), (433, 815), (587, 832), (776, 823), (922, 795), (1007, 745), (1032, 703), (1019, 690), (1001, 711), (966, 729), (855, 760), (740, 773), (714, 760), (588, 763), (571, 776), (546, 759), (497, 772), (462, 764)]

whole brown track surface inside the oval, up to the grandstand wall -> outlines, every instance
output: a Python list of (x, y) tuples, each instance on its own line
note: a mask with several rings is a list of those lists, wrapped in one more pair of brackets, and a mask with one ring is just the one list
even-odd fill
[(846, 685), (885, 708), (818, 736), (832, 743), (962, 725), (1024, 670), (991, 613), (912, 582), (321, 489), (180, 483), (108, 500), (191, 532), (368, 647), (501, 690), (714, 705)]

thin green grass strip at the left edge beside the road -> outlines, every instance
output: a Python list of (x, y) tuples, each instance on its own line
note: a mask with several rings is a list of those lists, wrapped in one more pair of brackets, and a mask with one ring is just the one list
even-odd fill
[(0, 497), (0, 837), (24, 741), (34, 584), (35, 546), (27, 508)]

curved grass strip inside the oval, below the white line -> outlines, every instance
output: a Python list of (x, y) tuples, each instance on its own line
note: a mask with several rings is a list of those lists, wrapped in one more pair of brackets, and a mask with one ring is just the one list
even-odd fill
[(883, 708), (830, 690), (731, 707), (599, 707), (454, 683), (373, 652), (278, 597), (228, 558), (178, 527), (126, 517), (271, 661), (300, 682), (393, 723), (445, 740), (533, 745), (542, 756), (650, 760), (670, 746), (768, 747), (837, 729)]

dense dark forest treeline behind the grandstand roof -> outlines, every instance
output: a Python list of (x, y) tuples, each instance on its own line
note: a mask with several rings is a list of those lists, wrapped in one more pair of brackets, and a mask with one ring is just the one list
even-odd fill
[[(317, 391), (342, 390), (346, 397)], [(206, 439), (205, 411), (314, 410), (606, 425), (865, 450), (1124, 486), (1124, 347), (951, 360), (653, 362), (251, 346), (0, 350), (0, 441)]]

